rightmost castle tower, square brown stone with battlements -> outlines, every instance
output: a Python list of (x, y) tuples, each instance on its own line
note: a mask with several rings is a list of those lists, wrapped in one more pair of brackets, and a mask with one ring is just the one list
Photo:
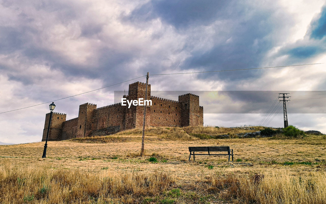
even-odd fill
[(199, 96), (188, 93), (179, 96), (181, 106), (181, 126), (202, 126), (203, 107), (199, 105)]

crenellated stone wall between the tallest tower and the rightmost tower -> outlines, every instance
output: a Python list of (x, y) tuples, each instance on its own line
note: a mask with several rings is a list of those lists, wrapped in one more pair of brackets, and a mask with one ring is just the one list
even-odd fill
[[(151, 96), (150, 126), (181, 126), (180, 103)], [(146, 111), (147, 114), (147, 111)]]

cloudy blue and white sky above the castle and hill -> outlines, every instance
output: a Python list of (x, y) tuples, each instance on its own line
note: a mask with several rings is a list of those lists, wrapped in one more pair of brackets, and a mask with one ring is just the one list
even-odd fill
[[(0, 112), (148, 71), (325, 62), (326, 4), (321, 0), (0, 0)], [(204, 124), (225, 127), (258, 125), (277, 93), (289, 92), (289, 124), (326, 133), (325, 66), (160, 75), (150, 76), (149, 82), (153, 93), (171, 99), (175, 93), (169, 91), (199, 93)], [(80, 104), (112, 104), (114, 91), (145, 80), (57, 101), (55, 111), (75, 118)], [(0, 142), (40, 141), (48, 112), (44, 104), (0, 114)], [(279, 113), (268, 126), (283, 126)]]

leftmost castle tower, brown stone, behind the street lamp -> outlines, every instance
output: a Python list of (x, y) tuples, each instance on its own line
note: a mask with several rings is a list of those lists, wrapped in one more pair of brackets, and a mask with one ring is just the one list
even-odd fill
[[(51, 113), (47, 113), (45, 115), (45, 124), (43, 129), (42, 141), (46, 140), (46, 134), (48, 132), (49, 121), (50, 121), (50, 114)], [(48, 141), (61, 140), (62, 126), (63, 123), (66, 121), (66, 117), (67, 115), (63, 113), (54, 113), (54, 112), (52, 113)]]

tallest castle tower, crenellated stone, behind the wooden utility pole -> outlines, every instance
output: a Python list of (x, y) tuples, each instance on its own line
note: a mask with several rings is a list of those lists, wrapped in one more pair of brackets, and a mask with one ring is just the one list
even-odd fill
[[(143, 98), (145, 100), (146, 83), (135, 82), (129, 84), (127, 100), (138, 100)], [(147, 100), (151, 99), (151, 85), (147, 87)], [(131, 105), (126, 107), (126, 123), (125, 129), (132, 129), (142, 127), (144, 117), (144, 106)], [(146, 108), (146, 123), (150, 122), (150, 106)]]

